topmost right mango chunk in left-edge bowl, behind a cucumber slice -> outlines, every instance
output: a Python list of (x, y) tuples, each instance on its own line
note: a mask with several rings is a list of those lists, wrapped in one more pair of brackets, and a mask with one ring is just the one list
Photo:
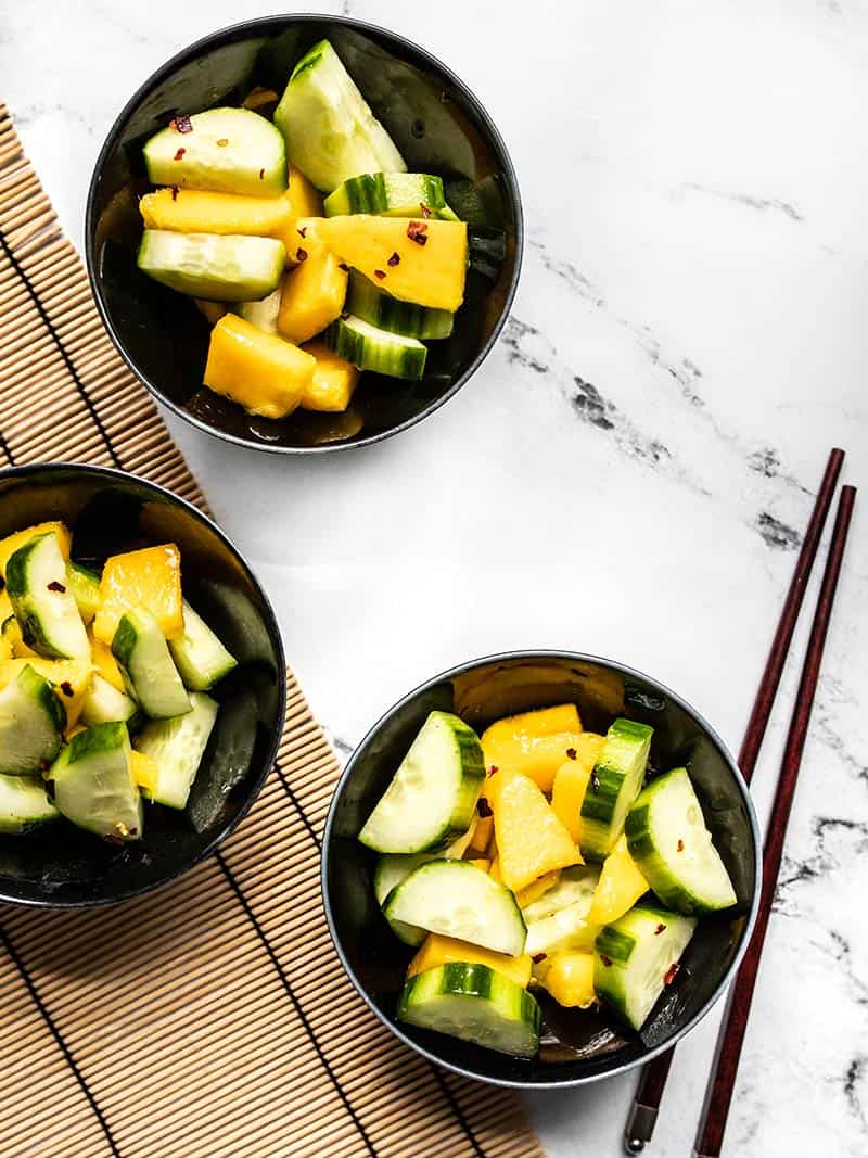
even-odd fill
[(100, 580), (94, 636), (111, 645), (120, 616), (134, 607), (150, 611), (167, 639), (184, 631), (181, 551), (175, 543), (112, 555)]

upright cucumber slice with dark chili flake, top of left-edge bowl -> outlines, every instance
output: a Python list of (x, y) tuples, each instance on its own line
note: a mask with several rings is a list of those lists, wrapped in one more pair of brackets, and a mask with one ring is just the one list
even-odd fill
[(90, 644), (69, 589), (53, 532), (36, 535), (6, 564), (6, 588), (28, 647), (49, 659), (90, 659)]

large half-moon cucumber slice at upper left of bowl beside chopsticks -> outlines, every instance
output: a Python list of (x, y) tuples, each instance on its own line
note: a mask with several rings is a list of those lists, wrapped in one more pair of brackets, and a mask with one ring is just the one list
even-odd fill
[(470, 827), (484, 780), (476, 732), (450, 712), (432, 712), (359, 840), (375, 852), (446, 848)]

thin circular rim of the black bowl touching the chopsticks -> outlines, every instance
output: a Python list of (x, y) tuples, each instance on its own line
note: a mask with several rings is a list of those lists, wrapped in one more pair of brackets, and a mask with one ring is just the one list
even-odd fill
[[(721, 755), (726, 760), (727, 764), (729, 764), (730, 771), (733, 772), (733, 776), (735, 778), (736, 785), (738, 787), (738, 791), (741, 793), (742, 800), (745, 805), (745, 809), (748, 813), (748, 822), (750, 826), (750, 833), (756, 856), (756, 873), (753, 878), (753, 889), (752, 889), (750, 911), (746, 914), (744, 928), (742, 929), (741, 939), (736, 948), (736, 952), (733, 955), (733, 960), (730, 961), (729, 967), (726, 969), (722, 977), (718, 982), (714, 992), (708, 998), (706, 1004), (684, 1026), (682, 1026), (677, 1033), (675, 1033), (667, 1041), (661, 1042), (653, 1049), (649, 1049), (641, 1057), (635, 1057), (627, 1062), (620, 1062), (617, 1065), (612, 1065), (610, 1069), (603, 1070), (601, 1073), (591, 1073), (588, 1075), (587, 1077), (579, 1077), (579, 1078), (575, 1077), (560, 1078), (560, 1079), (553, 1078), (546, 1082), (521, 1082), (512, 1078), (488, 1077), (485, 1073), (479, 1073), (476, 1070), (469, 1069), (466, 1067), (457, 1065), (454, 1062), (444, 1061), (442, 1057), (437, 1056), (437, 1054), (433, 1053), (431, 1049), (426, 1049), (424, 1046), (419, 1045), (418, 1041), (414, 1041), (412, 1038), (405, 1034), (397, 1021), (390, 1020), (382, 1012), (382, 1010), (380, 1010), (376, 1006), (376, 1004), (372, 1001), (367, 990), (365, 989), (365, 987), (353, 972), (353, 968), (350, 965), (350, 961), (347, 960), (344, 953), (340, 939), (334, 928), (334, 921), (331, 911), (331, 901), (329, 899), (329, 891), (328, 891), (328, 866), (330, 857), (332, 828), (334, 824), (334, 819), (337, 813), (337, 804), (340, 796), (344, 792), (344, 789), (346, 787), (350, 777), (352, 776), (355, 761), (361, 750), (365, 747), (367, 747), (368, 742), (374, 739), (374, 736), (377, 734), (381, 727), (383, 727), (383, 725), (397, 711), (399, 711), (410, 701), (415, 698), (420, 692), (426, 691), (428, 688), (434, 687), (435, 684), (441, 683), (446, 680), (454, 679), (456, 675), (463, 675), (466, 672), (480, 667), (484, 664), (496, 664), (506, 660), (536, 660), (536, 659), (568, 660), (571, 662), (580, 662), (580, 664), (581, 662), (599, 664), (618, 672), (618, 674), (620, 675), (645, 680), (650, 684), (655, 684), (663, 692), (663, 695), (672, 699), (679, 708), (682, 708), (690, 716), (692, 716), (693, 719), (696, 719), (696, 721), (701, 726), (701, 728), (712, 740), (712, 742), (716, 745)], [(590, 652), (559, 651), (556, 648), (538, 648), (538, 650), (518, 648), (516, 651), (495, 652), (490, 655), (481, 655), (478, 659), (468, 660), (464, 664), (457, 664), (455, 667), (451, 667), (446, 672), (441, 672), (439, 675), (435, 675), (429, 680), (425, 680), (424, 683), (420, 683), (417, 688), (414, 688), (412, 691), (409, 691), (405, 696), (403, 696), (395, 704), (392, 704), (391, 708), (387, 709), (387, 711), (383, 712), (383, 714), (373, 725), (373, 727), (368, 728), (367, 733), (355, 746), (352, 755), (347, 760), (344, 771), (340, 776), (340, 779), (336, 784), (334, 791), (332, 793), (331, 802), (329, 805), (329, 814), (326, 816), (325, 828), (323, 830), (322, 858), (319, 868), (319, 887), (322, 891), (323, 909), (325, 910), (325, 919), (329, 925), (329, 933), (331, 936), (332, 944), (338, 954), (338, 958), (340, 959), (340, 963), (344, 967), (344, 972), (347, 974), (347, 976), (352, 981), (353, 985), (355, 987), (356, 991), (360, 994), (367, 1006), (376, 1014), (376, 1017), (380, 1019), (380, 1021), (383, 1023), (383, 1025), (385, 1025), (389, 1029), (391, 1029), (391, 1032), (397, 1038), (399, 1038), (405, 1046), (410, 1046), (411, 1049), (414, 1049), (418, 1054), (421, 1054), (421, 1056), (427, 1058), (429, 1062), (433, 1062), (436, 1065), (441, 1065), (447, 1070), (451, 1070), (451, 1072), (454, 1073), (459, 1073), (462, 1077), (470, 1078), (471, 1080), (475, 1082), (484, 1082), (487, 1085), (506, 1086), (513, 1090), (524, 1090), (532, 1092), (536, 1090), (562, 1090), (574, 1086), (590, 1085), (595, 1082), (602, 1082), (605, 1078), (611, 1078), (619, 1073), (626, 1073), (627, 1071), (633, 1070), (637, 1067), (645, 1065), (646, 1062), (650, 1062), (660, 1054), (663, 1054), (667, 1050), (672, 1049), (684, 1036), (686, 1036), (686, 1034), (689, 1034), (692, 1029), (694, 1029), (696, 1026), (699, 1025), (699, 1023), (711, 1012), (713, 1006), (720, 1001), (720, 998), (723, 995), (723, 991), (729, 984), (730, 979), (733, 977), (736, 969), (741, 965), (742, 958), (748, 951), (748, 945), (750, 944), (753, 925), (757, 919), (757, 914), (759, 910), (759, 900), (762, 889), (762, 866), (763, 866), (763, 842), (759, 831), (759, 821), (757, 819), (756, 808), (753, 806), (753, 800), (751, 799), (750, 792), (748, 790), (746, 782), (742, 776), (738, 764), (736, 763), (735, 757), (729, 750), (729, 747), (723, 742), (720, 734), (712, 727), (712, 725), (706, 720), (705, 716), (700, 711), (693, 708), (692, 704), (690, 704), (683, 696), (679, 696), (678, 692), (672, 691), (672, 689), (669, 688), (667, 684), (661, 683), (660, 680), (655, 680), (653, 676), (647, 675), (645, 672), (641, 672), (638, 668), (630, 667), (627, 664), (621, 664), (619, 660), (612, 660), (606, 658), (605, 655), (595, 655)]]

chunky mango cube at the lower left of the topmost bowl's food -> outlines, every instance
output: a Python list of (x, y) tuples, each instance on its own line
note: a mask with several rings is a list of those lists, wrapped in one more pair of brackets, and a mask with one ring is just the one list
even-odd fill
[(227, 314), (211, 331), (204, 381), (252, 415), (286, 418), (300, 404), (315, 366), (290, 342)]

